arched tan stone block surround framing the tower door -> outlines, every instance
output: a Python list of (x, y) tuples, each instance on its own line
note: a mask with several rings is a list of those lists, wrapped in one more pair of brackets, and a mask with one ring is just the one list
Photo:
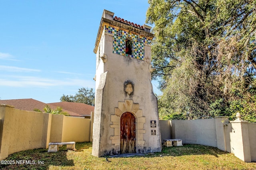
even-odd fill
[(114, 145), (114, 152), (120, 153), (120, 117), (123, 113), (130, 112), (136, 118), (136, 153), (144, 153), (144, 139), (143, 134), (146, 130), (143, 129), (144, 123), (146, 123), (146, 117), (142, 116), (142, 109), (140, 104), (133, 103), (133, 100), (125, 99), (124, 102), (118, 102), (118, 107), (115, 107), (115, 114), (111, 115), (110, 121), (114, 128), (114, 136), (110, 137), (112, 144)]

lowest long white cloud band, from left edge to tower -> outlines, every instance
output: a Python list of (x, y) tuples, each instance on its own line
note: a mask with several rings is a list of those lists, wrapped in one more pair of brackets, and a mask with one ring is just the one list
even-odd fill
[(95, 88), (94, 80), (81, 79), (64, 79), (55, 80), (49, 78), (40, 78), (34, 76), (9, 76), (8, 78), (0, 78), (0, 86), (9, 87), (56, 87), (56, 86), (80, 86)]

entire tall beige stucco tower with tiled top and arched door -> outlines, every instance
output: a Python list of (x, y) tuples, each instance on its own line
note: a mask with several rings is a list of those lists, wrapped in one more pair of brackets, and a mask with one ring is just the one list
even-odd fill
[(103, 11), (94, 48), (94, 156), (162, 150), (150, 29)]

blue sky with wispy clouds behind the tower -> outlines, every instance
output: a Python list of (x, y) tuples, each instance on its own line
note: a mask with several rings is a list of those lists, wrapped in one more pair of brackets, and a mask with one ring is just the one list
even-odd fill
[(143, 25), (148, 6), (148, 0), (0, 0), (0, 100), (52, 103), (95, 89), (93, 49), (103, 10)]

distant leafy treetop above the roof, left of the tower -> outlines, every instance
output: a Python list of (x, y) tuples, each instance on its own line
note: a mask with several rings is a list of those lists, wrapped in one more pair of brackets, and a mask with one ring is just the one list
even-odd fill
[(75, 96), (72, 95), (62, 95), (60, 98), (61, 102), (77, 102), (77, 103), (84, 103), (91, 106), (94, 106), (95, 103), (95, 93), (91, 88), (88, 90), (87, 88), (80, 88), (78, 93)]

